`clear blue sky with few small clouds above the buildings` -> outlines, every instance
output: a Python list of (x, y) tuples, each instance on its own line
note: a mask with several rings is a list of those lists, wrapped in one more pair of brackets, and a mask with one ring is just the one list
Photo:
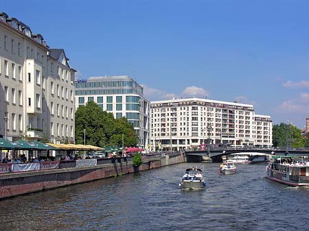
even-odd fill
[(63, 48), (77, 76), (129, 75), (150, 100), (253, 104), (309, 117), (308, 0), (8, 1), (1, 11)]

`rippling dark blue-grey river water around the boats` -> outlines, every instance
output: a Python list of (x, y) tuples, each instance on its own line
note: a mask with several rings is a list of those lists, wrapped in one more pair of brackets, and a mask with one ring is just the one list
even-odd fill
[[(266, 165), (184, 163), (0, 201), (0, 230), (309, 230), (309, 189), (266, 180)], [(207, 186), (179, 189), (187, 167)]]

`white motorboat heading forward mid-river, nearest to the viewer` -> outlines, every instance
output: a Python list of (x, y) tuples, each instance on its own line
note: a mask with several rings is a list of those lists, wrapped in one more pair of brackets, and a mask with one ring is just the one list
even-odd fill
[(185, 169), (185, 175), (181, 179), (179, 186), (182, 189), (203, 189), (206, 185), (202, 169), (190, 168)]

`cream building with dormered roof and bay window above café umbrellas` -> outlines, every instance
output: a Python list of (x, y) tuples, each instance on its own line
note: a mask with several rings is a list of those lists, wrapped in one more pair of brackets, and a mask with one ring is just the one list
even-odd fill
[(63, 49), (0, 13), (0, 136), (74, 141), (74, 73)]

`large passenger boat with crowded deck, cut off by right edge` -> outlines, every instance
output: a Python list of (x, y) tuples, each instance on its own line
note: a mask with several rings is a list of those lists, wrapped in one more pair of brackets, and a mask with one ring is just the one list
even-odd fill
[(266, 178), (290, 186), (309, 186), (309, 162), (295, 156), (273, 156)]

